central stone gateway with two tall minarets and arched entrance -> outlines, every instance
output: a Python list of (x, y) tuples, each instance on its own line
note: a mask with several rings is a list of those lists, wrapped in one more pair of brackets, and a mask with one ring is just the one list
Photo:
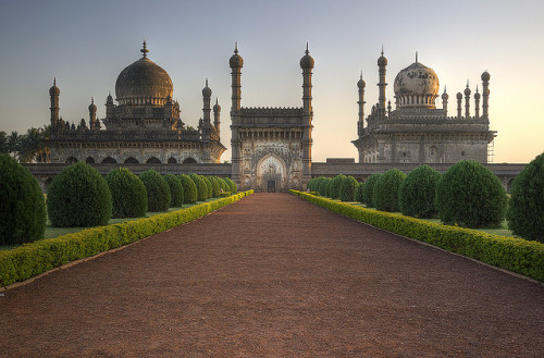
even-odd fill
[(242, 67), (237, 47), (232, 69), (232, 178), (243, 189), (276, 192), (304, 188), (311, 177), (311, 75), (313, 59), (300, 59), (302, 107), (242, 107)]

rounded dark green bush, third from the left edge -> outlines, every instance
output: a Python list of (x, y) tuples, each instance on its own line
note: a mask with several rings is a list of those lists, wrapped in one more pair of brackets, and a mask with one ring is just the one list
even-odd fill
[(139, 218), (147, 212), (147, 190), (138, 176), (126, 168), (106, 175), (112, 198), (112, 218)]

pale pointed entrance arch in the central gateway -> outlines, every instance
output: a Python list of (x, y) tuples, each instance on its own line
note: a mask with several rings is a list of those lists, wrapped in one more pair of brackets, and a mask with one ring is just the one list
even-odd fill
[(274, 155), (269, 153), (262, 157), (257, 163), (257, 189), (263, 192), (280, 192), (287, 185), (287, 165), (285, 161)]

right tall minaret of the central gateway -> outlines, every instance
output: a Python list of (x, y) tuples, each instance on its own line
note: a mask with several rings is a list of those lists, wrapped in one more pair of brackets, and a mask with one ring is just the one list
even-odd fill
[(302, 69), (302, 109), (304, 109), (304, 132), (302, 132), (302, 189), (311, 178), (311, 129), (313, 110), (311, 108), (311, 71), (316, 62), (308, 51), (306, 42), (305, 55), (300, 59), (300, 69)]

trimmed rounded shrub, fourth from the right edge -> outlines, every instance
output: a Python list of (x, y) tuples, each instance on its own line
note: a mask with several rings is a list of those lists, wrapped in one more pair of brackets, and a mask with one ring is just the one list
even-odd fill
[(398, 211), (398, 188), (406, 174), (398, 169), (390, 169), (375, 182), (372, 193), (372, 202), (376, 210)]

